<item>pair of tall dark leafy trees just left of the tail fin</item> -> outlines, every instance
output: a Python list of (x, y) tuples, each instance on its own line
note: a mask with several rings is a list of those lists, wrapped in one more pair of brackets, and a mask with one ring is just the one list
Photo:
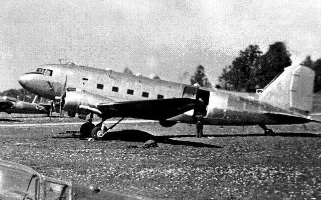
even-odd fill
[(290, 56), (282, 42), (270, 45), (264, 55), (259, 46), (249, 45), (223, 69), (219, 81), (228, 90), (252, 92), (264, 88), (284, 67), (291, 65)]

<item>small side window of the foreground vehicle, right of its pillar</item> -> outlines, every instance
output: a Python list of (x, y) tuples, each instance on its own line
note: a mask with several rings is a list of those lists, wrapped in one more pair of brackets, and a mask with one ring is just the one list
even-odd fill
[(68, 185), (46, 180), (46, 199), (67, 200), (69, 189)]

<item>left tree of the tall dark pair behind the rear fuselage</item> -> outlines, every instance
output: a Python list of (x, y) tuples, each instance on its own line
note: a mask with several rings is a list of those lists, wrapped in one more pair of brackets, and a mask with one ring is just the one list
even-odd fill
[(236, 91), (254, 91), (259, 74), (260, 56), (262, 52), (257, 45), (249, 45), (245, 51), (240, 51), (232, 64), (223, 69), (219, 81), (224, 89)]

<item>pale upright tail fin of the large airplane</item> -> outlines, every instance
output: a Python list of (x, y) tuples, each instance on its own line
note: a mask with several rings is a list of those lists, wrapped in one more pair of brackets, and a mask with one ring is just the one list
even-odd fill
[(308, 114), (312, 109), (314, 71), (288, 66), (260, 94), (260, 101), (282, 109)]

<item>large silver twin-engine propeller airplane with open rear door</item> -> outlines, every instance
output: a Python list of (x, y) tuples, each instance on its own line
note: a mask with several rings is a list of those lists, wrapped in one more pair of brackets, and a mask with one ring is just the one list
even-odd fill
[[(31, 92), (52, 99), (56, 107), (89, 121), (80, 132), (101, 139), (111, 128), (102, 126), (117, 117), (156, 120), (164, 127), (177, 122), (195, 124), (202, 113), (205, 125), (266, 125), (316, 122), (312, 108), (314, 71), (289, 66), (260, 93), (232, 92), (119, 73), (73, 63), (46, 64), (19, 79)], [(58, 110), (58, 109), (56, 109)], [(93, 114), (102, 118), (96, 126)], [(117, 123), (116, 123), (117, 124)]]

